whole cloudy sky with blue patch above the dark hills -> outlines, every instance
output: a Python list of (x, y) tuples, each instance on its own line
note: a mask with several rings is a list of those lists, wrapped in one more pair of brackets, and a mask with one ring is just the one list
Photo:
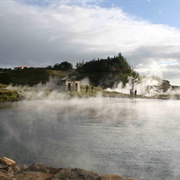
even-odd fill
[(121, 53), (141, 75), (180, 85), (180, 0), (0, 0), (0, 67), (47, 67)]

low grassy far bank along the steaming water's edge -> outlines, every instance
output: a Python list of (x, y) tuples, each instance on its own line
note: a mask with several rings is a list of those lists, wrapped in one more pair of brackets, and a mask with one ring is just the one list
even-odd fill
[[(31, 92), (31, 89), (26, 90), (26, 92)], [(47, 97), (51, 92), (53, 91), (44, 91), (47, 93)], [(38, 92), (35, 92), (38, 93)], [(131, 96), (130, 94), (124, 94), (116, 91), (106, 91), (106, 90), (95, 90), (94, 92), (58, 92), (63, 95), (65, 95), (67, 98), (92, 98), (92, 97), (109, 97), (109, 98), (130, 98), (130, 99), (160, 99), (160, 100), (180, 100), (180, 94), (156, 94), (153, 96), (145, 96), (145, 95), (136, 95)], [(46, 98), (46, 97), (44, 97)], [(14, 101), (21, 101), (21, 100), (32, 100), (34, 98), (27, 98), (26, 95), (24, 95), (21, 92), (21, 89), (18, 90), (16, 88), (14, 89), (6, 89), (6, 88), (0, 88), (0, 102), (14, 102)], [(43, 97), (42, 97), (43, 99)]]

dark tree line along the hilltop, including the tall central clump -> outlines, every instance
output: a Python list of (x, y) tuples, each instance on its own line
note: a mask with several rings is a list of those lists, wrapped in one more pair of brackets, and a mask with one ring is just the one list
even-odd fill
[[(26, 71), (26, 69), (67, 71), (70, 79), (75, 78), (75, 80), (81, 80), (87, 77), (89, 78), (91, 85), (101, 86), (103, 88), (113, 87), (120, 81), (125, 85), (128, 82), (129, 76), (133, 78), (139, 76), (121, 53), (114, 57), (107, 57), (106, 59), (93, 59), (87, 62), (79, 62), (76, 64), (75, 69), (73, 69), (73, 65), (67, 61), (56, 63), (54, 66), (49, 65), (45, 68), (28, 67), (22, 70)], [(10, 70), (11, 69), (8, 69), (8, 71)], [(2, 73), (3, 71), (7, 71), (7, 69), (0, 68), (0, 83), (7, 83), (6, 81), (9, 82), (10, 78), (7, 73)]]

